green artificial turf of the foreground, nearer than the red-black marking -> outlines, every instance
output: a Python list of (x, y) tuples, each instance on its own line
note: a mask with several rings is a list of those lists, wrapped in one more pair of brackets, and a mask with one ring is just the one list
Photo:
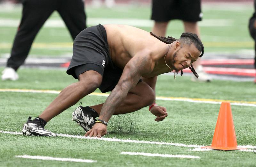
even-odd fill
[[(2, 69), (1, 69), (2, 70)], [(0, 89), (61, 90), (76, 82), (65, 74), (64, 69), (39, 70), (20, 69), (20, 80), (0, 81)], [(229, 90), (225, 93), (227, 87)], [(200, 85), (198, 85), (200, 84)], [(158, 78), (157, 96), (250, 100), (255, 102), (254, 89), (248, 91), (251, 83), (233, 81), (214, 81), (212, 83), (192, 83), (190, 77), (182, 76), (173, 80), (173, 76), (162, 75)], [(218, 93), (212, 93), (212, 91)], [(99, 91), (97, 91), (99, 92)], [(188, 93), (190, 92), (190, 93)], [(193, 93), (192, 93), (193, 92)], [(201, 92), (201, 93), (200, 93)], [(204, 93), (205, 92), (205, 93)], [(210, 95), (207, 95), (208, 93)], [(239, 92), (246, 92), (244, 95)], [(228, 96), (229, 94), (229, 96)], [(232, 96), (230, 95), (232, 94)], [(35, 118), (57, 96), (50, 93), (0, 92), (0, 130), (21, 132), (28, 116)], [(80, 101), (82, 105), (103, 103), (106, 97), (90, 95)], [(137, 112), (114, 115), (108, 126), (108, 138), (131, 139), (139, 141), (175, 142), (187, 145), (211, 145), (216, 125), (219, 104), (191, 103), (182, 101), (157, 100), (158, 105), (167, 108), (168, 117), (161, 122), (154, 121), (148, 107)], [(71, 113), (78, 103), (46, 125), (46, 128), (58, 134), (84, 135), (84, 130), (71, 121)], [(255, 145), (255, 107), (232, 105), (233, 120), (238, 145)], [(256, 163), (253, 152), (242, 151), (191, 151), (193, 148), (110, 142), (67, 137), (29, 137), (0, 133), (0, 161), (2, 166), (83, 166), (84, 163), (45, 161), (16, 158), (16, 155), (52, 156), (97, 160), (90, 166), (253, 166)], [(121, 155), (121, 152), (145, 152), (172, 155), (193, 155), (199, 159), (164, 158)]]

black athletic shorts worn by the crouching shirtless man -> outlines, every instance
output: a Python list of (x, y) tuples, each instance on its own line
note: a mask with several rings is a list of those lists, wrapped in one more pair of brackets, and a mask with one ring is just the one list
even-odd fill
[(97, 71), (102, 75), (99, 87), (102, 93), (112, 91), (123, 73), (123, 69), (112, 63), (107, 33), (100, 24), (88, 27), (76, 36), (67, 74), (78, 79), (80, 74), (89, 70)]

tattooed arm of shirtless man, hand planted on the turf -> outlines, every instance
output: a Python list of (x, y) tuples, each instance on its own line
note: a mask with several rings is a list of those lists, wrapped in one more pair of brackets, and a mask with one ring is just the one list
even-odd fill
[[(149, 54), (141, 53), (135, 55), (124, 67), (123, 74), (120, 77), (116, 87), (110, 93), (102, 106), (99, 119), (108, 122), (127, 96), (128, 91), (134, 88), (143, 74), (150, 73), (154, 68), (154, 62)], [(96, 123), (85, 136), (102, 136), (107, 133), (107, 126)]]

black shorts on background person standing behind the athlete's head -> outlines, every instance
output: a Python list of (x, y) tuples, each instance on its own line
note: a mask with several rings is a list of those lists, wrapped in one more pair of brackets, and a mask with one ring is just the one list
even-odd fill
[(201, 0), (152, 0), (151, 19), (157, 22), (173, 19), (197, 22), (202, 17)]

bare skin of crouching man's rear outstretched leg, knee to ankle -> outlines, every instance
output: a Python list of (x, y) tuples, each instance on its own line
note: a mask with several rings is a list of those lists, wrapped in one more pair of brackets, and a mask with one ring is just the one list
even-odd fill
[(96, 71), (86, 71), (79, 75), (79, 81), (63, 89), (57, 98), (43, 111), (39, 118), (46, 122), (62, 113), (81, 98), (95, 91), (101, 84), (102, 76)]

